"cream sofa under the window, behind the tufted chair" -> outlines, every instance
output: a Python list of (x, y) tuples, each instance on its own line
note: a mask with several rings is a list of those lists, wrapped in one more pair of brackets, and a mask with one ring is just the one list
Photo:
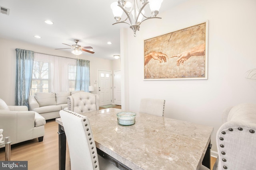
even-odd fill
[(68, 96), (81, 91), (44, 93), (38, 92), (34, 96), (29, 96), (29, 110), (36, 111), (46, 120), (60, 117), (60, 110), (68, 107)]

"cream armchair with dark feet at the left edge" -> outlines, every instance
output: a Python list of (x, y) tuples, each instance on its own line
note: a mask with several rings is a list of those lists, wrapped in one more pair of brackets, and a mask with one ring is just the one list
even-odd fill
[[(34, 111), (28, 111), (27, 106), (7, 106), (0, 99), (0, 129), (3, 136), (10, 137), (12, 144), (38, 138), (43, 141), (44, 117)], [(4, 145), (0, 146), (0, 148)]]

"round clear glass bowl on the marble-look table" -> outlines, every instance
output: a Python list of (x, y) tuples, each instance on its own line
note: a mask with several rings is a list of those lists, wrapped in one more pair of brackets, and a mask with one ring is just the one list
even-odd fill
[(129, 112), (129, 111), (122, 111), (119, 113), (116, 113), (117, 116), (117, 123), (119, 125), (133, 125), (135, 123), (135, 117), (136, 113), (134, 112)]

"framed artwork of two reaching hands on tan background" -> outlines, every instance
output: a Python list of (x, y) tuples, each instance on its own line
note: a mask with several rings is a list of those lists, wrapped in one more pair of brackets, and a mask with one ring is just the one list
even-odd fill
[(208, 21), (144, 40), (144, 80), (207, 79)]

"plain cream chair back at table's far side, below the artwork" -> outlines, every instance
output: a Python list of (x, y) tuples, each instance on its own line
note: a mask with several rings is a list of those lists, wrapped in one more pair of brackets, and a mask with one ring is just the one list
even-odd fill
[(164, 99), (142, 98), (140, 101), (140, 113), (164, 116)]

